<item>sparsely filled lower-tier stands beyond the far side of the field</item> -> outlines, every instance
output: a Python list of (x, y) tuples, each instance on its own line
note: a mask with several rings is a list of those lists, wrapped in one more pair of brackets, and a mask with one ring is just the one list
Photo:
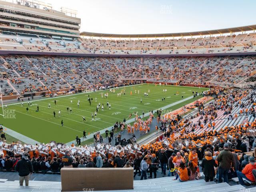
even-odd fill
[[(234, 86), (253, 80), (254, 56), (110, 58), (2, 56), (5, 95), (88, 88), (122, 80)], [(8, 82), (9, 81), (9, 82)]]

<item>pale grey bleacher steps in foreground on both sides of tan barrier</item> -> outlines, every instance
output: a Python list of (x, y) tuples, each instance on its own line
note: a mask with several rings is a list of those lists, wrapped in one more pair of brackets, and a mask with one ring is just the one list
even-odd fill
[[(115, 192), (232, 192), (245, 191), (242, 185), (230, 186), (227, 183), (205, 182), (204, 180), (192, 180), (180, 182), (173, 180), (174, 177), (164, 177), (148, 180), (134, 181), (133, 190), (115, 190)], [(1, 192), (60, 192), (61, 182), (29, 181), (29, 186), (19, 186), (19, 181), (0, 181)], [(250, 188), (250, 192), (256, 188)], [(98, 191), (106, 192), (106, 191)]]

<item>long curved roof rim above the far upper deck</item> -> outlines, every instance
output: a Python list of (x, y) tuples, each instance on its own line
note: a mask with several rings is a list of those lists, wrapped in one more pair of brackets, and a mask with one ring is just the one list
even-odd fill
[(81, 32), (81, 36), (100, 37), (100, 38), (165, 38), (165, 37), (183, 37), (183, 36), (203, 36), (214, 34), (226, 34), (235, 32), (245, 32), (256, 30), (256, 25), (233, 27), (226, 29), (196, 31), (196, 32), (183, 32), (183, 33), (163, 33), (163, 34), (105, 34), (93, 32)]

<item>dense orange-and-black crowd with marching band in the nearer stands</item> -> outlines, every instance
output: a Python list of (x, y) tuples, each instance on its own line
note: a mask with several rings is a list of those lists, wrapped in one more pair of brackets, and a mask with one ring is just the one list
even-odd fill
[[(206, 182), (214, 180), (215, 176), (218, 182), (228, 182), (233, 177), (238, 177), (242, 185), (245, 185), (242, 178), (255, 182), (255, 88), (217, 88), (204, 94), (214, 96), (214, 102), (208, 106), (201, 104), (196, 116), (182, 118), (158, 113), (158, 118), (161, 118), (160, 136), (154, 142), (137, 146), (134, 151), (125, 148), (116, 148), (115, 152), (94, 149), (88, 154), (79, 154), (69, 148), (62, 153), (50, 151), (44, 154), (36, 150), (30, 151), (28, 158), (34, 172), (42, 173), (59, 172), (62, 167), (133, 167), (134, 177), (139, 174), (142, 180), (153, 175), (156, 178), (156, 170), (161, 168), (163, 176), (175, 176), (175, 180), (186, 182), (198, 179), (202, 169)], [(235, 116), (234, 112), (239, 114)], [(238, 125), (218, 127), (217, 119), (222, 113), (232, 122), (239, 117), (246, 118), (241, 118), (243, 121), (238, 121)], [(13, 145), (15, 143), (8, 148)], [(74, 147), (72, 145), (71, 148)], [(48, 146), (51, 147), (50, 144)], [(14, 154), (12, 150), (3, 152), (4, 155), (0, 156), (2, 169), (14, 170), (22, 158), (21, 154)]]

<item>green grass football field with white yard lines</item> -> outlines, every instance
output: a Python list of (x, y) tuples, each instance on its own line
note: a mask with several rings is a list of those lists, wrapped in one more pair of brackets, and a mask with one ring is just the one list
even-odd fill
[[(167, 92), (164, 93), (163, 89)], [(125, 90), (125, 95), (121, 94), (117, 97), (117, 93)], [(136, 90), (136, 94), (135, 94)], [(138, 94), (138, 90), (140, 93)], [(150, 92), (148, 93), (148, 90)], [(207, 90), (206, 88), (195, 87), (183, 87), (183, 86), (155, 86), (153, 84), (139, 84), (136, 86), (127, 86), (115, 90), (115, 93), (111, 93), (109, 90), (98, 91), (96, 93), (84, 93), (74, 94), (64, 97), (48, 98), (44, 100), (32, 101), (32, 106), (28, 106), (27, 102), (23, 102), (24, 106), (20, 103), (9, 105), (8, 112), (15, 110), (14, 118), (0, 117), (1, 124), (10, 128), (20, 134), (28, 136), (38, 142), (49, 142), (55, 140), (56, 142), (70, 142), (74, 140), (76, 134), (82, 135), (83, 130), (88, 133), (94, 133), (113, 126), (114, 122), (122, 121), (124, 118), (128, 118), (132, 112), (138, 112), (142, 115), (142, 111), (145, 113), (149, 110), (156, 110), (161, 107), (167, 106), (179, 100), (192, 96), (192, 91), (202, 92)], [(132, 95), (130, 92), (132, 91)], [(104, 93), (108, 92), (108, 98), (104, 98)], [(144, 97), (144, 92), (148, 93), (148, 97)], [(175, 95), (179, 92), (179, 95)], [(101, 97), (103, 93), (103, 98)], [(93, 98), (90, 106), (87, 101), (88, 94), (90, 98)], [(184, 98), (182, 98), (182, 95)], [(162, 102), (162, 97), (165, 97), (165, 101)], [(97, 102), (95, 102), (97, 98)], [(140, 99), (142, 98), (142, 103)], [(176, 104), (166, 110), (175, 110), (185, 104), (189, 104), (194, 100), (200, 98), (192, 98)], [(57, 104), (54, 104), (54, 100)], [(72, 100), (72, 104), (70, 102)], [(77, 102), (80, 100), (80, 106), (78, 108)], [(111, 104), (111, 110), (106, 107), (107, 101)], [(97, 119), (92, 121), (91, 113), (96, 111), (96, 105), (100, 102), (104, 104), (104, 111), (99, 108), (97, 113)], [(48, 108), (48, 103), (51, 104), (51, 108)], [(26, 112), (26, 107), (29, 110)], [(36, 112), (36, 108), (39, 106), (39, 112)], [(72, 108), (72, 113), (67, 112), (67, 107)], [(61, 115), (58, 116), (58, 111), (61, 110)], [(56, 112), (56, 118), (53, 116), (53, 112)], [(82, 116), (86, 118), (87, 122), (82, 122)], [(134, 118), (134, 116), (133, 116)], [(64, 122), (64, 126), (61, 126), (61, 120)]]

